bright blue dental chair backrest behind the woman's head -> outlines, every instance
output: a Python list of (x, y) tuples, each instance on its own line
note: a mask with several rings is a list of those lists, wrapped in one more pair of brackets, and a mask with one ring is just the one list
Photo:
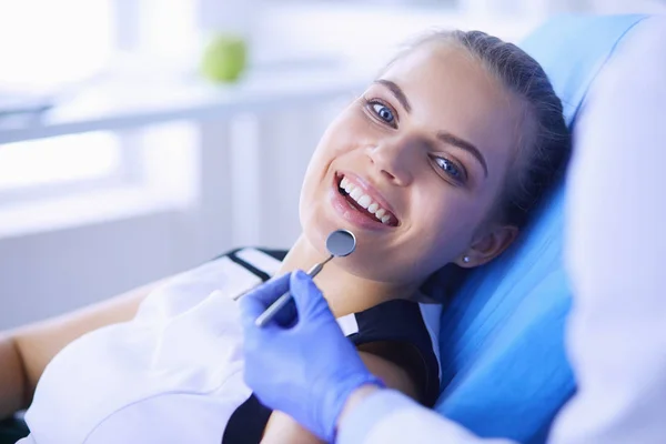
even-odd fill
[[(558, 17), (521, 46), (545, 69), (569, 127), (617, 43), (644, 17)], [(564, 184), (512, 249), (474, 271), (444, 311), (436, 410), (484, 436), (543, 442), (575, 390), (564, 353)]]

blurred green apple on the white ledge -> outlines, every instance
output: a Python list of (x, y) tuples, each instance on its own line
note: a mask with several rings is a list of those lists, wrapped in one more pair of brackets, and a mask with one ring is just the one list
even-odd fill
[(234, 82), (248, 64), (248, 44), (239, 36), (214, 36), (203, 51), (201, 73), (216, 82)]

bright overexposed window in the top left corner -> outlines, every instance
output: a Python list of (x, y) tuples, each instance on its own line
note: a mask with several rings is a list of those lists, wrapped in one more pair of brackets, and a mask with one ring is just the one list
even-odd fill
[(111, 0), (0, 1), (0, 91), (83, 80), (111, 56)]

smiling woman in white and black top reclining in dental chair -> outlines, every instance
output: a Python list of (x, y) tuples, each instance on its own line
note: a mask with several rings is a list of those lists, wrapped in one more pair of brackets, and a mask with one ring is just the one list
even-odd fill
[[(148, 297), (154, 289), (6, 341), (17, 369), (6, 380), (41, 379), (27, 415), (32, 440), (316, 441), (243, 384), (230, 296), (321, 261), (340, 228), (355, 233), (356, 251), (326, 265), (317, 286), (365, 365), (432, 404), (438, 364), (420, 287), (446, 264), (501, 254), (567, 152), (561, 102), (532, 58), (482, 32), (422, 38), (322, 137), (301, 193), (303, 233), (284, 258), (234, 252)], [(18, 391), (7, 398), (21, 406)]]

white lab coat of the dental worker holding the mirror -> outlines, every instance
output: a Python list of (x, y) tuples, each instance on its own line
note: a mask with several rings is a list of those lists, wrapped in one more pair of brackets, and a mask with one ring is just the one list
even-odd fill
[[(626, 38), (579, 119), (566, 236), (578, 392), (548, 442), (666, 443), (666, 17)], [(345, 417), (337, 442), (508, 443), (387, 391)]]

